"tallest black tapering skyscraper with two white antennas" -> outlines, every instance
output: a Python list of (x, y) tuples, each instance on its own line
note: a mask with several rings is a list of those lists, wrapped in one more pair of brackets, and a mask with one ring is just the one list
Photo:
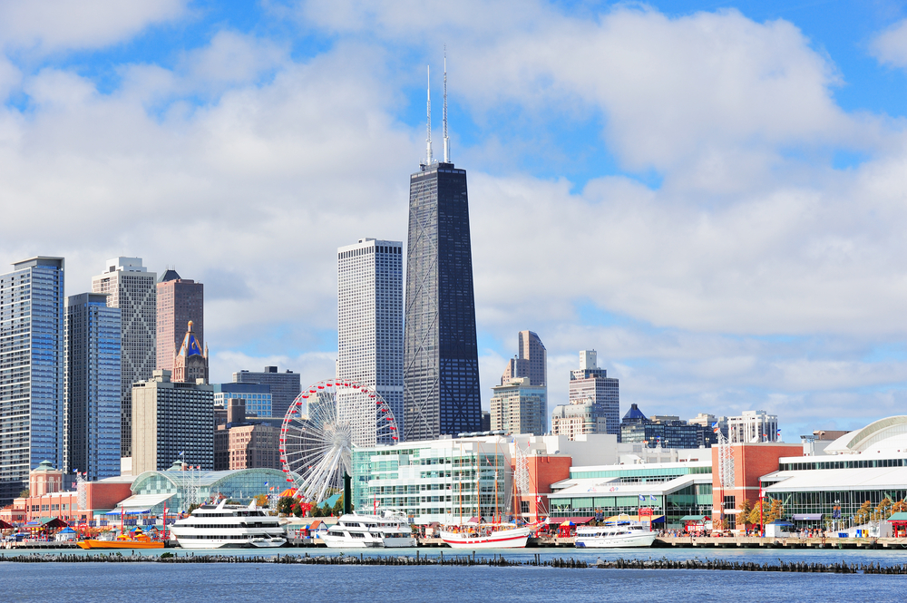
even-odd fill
[[(446, 68), (445, 68), (446, 72)], [(410, 176), (404, 330), (406, 440), (475, 432), (481, 426), (473, 257), (466, 170), (450, 161), (444, 74), (444, 161), (427, 156)]]

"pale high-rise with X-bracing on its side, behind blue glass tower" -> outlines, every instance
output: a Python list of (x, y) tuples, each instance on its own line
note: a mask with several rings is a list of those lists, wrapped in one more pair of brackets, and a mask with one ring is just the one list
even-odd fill
[(107, 305), (120, 308), (120, 453), (132, 456), (132, 384), (150, 379), (157, 362), (157, 275), (141, 258), (112, 258), (92, 278), (93, 293), (109, 293)]

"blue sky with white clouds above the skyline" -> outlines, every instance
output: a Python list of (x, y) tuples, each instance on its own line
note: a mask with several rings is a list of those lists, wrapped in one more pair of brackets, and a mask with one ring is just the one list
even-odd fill
[(517, 333), (621, 414), (907, 403), (907, 5), (0, 0), (0, 264), (205, 284), (213, 382), (334, 374), (336, 248), (468, 173), (483, 406)]

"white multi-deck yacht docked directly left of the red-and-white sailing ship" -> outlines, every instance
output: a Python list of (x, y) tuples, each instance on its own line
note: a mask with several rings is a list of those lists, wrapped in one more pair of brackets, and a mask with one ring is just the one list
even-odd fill
[(380, 515), (356, 511), (341, 515), (336, 524), (320, 534), (332, 549), (400, 548), (416, 546), (413, 530), (404, 515), (384, 511)]

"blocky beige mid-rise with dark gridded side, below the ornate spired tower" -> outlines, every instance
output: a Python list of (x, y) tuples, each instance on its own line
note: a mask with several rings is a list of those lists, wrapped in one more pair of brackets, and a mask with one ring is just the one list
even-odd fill
[(174, 383), (170, 371), (132, 387), (132, 474), (163, 471), (183, 461), (214, 468), (214, 388)]

